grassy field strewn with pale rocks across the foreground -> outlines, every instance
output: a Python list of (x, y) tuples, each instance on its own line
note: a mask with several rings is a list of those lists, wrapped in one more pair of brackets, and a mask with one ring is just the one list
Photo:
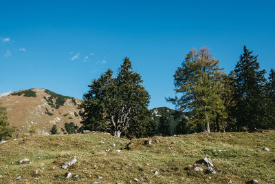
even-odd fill
[[(0, 183), (245, 183), (252, 179), (275, 183), (274, 151), (275, 131), (131, 141), (94, 132), (33, 135), (0, 145)], [(61, 169), (74, 156), (78, 161)], [(203, 172), (193, 170), (192, 165), (204, 157), (212, 159), (216, 174), (206, 174), (206, 166), (199, 164)], [(30, 162), (18, 162), (25, 158)], [(72, 173), (70, 178), (67, 172)], [(21, 180), (16, 181), (18, 176)]]

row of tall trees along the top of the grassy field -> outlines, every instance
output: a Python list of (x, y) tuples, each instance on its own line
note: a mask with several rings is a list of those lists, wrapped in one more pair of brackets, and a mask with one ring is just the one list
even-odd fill
[[(275, 128), (275, 72), (271, 70), (268, 79), (265, 73), (245, 46), (230, 74), (208, 48), (190, 50), (174, 74), (176, 96), (166, 99), (188, 114), (177, 125), (177, 133)], [(128, 57), (116, 76), (109, 69), (94, 79), (83, 99), (83, 130), (130, 138), (169, 134), (163, 112), (158, 125), (151, 119), (150, 96)]]

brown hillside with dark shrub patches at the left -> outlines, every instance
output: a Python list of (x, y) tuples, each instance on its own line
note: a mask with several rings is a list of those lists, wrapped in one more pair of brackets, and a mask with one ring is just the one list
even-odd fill
[(58, 131), (65, 123), (80, 126), (79, 99), (56, 94), (45, 89), (21, 90), (0, 94), (0, 101), (7, 107), (10, 126), (15, 126), (14, 137), (30, 134), (30, 128), (38, 134), (48, 134), (52, 125)]

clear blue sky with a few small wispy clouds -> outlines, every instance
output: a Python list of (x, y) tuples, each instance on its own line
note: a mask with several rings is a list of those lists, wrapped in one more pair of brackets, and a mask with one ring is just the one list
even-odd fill
[(47, 88), (82, 99), (124, 57), (142, 75), (149, 108), (168, 106), (173, 74), (208, 46), (229, 72), (243, 45), (274, 68), (275, 1), (0, 1), (0, 93)]

